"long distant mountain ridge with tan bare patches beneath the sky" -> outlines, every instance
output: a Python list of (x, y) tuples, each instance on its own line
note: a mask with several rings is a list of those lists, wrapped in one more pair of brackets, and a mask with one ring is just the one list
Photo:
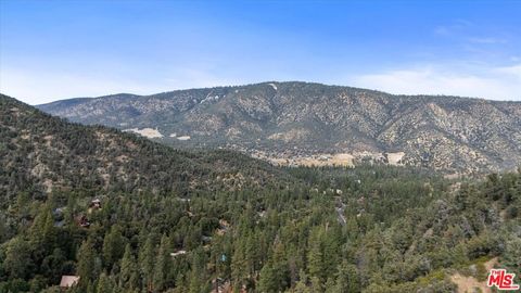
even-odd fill
[(224, 146), (279, 164), (372, 161), (472, 173), (521, 163), (521, 102), (264, 82), (38, 107), (180, 148)]

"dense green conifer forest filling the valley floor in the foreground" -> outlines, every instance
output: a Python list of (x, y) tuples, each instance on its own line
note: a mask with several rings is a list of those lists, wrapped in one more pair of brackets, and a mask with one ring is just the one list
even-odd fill
[(0, 291), (54, 292), (78, 275), (72, 292), (452, 292), (452, 269), (494, 256), (520, 272), (520, 173), (463, 183), (379, 166), (292, 173), (310, 183), (20, 192), (0, 214)]

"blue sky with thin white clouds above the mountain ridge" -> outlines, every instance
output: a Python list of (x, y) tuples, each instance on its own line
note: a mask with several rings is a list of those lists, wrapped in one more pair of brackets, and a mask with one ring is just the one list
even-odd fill
[(268, 80), (521, 100), (521, 1), (0, 0), (30, 104)]

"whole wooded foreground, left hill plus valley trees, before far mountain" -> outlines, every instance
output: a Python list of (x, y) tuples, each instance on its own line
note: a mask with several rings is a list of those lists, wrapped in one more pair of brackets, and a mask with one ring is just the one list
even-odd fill
[(89, 293), (455, 292), (491, 259), (521, 273), (520, 170), (279, 169), (0, 105), (0, 292), (64, 275)]

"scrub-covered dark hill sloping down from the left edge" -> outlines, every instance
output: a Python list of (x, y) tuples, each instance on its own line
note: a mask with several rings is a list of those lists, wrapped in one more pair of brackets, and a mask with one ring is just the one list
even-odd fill
[(282, 182), (267, 163), (228, 151), (185, 152), (102, 126), (52, 117), (0, 95), (0, 194), (53, 189), (186, 192)]

